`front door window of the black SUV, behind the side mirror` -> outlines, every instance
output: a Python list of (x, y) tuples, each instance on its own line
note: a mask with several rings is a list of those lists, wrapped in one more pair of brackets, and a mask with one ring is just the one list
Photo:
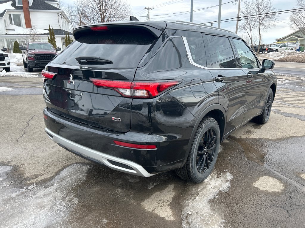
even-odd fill
[(252, 51), (249, 49), (249, 47), (242, 40), (232, 40), (238, 51), (242, 68), (257, 68), (257, 59), (252, 53)]

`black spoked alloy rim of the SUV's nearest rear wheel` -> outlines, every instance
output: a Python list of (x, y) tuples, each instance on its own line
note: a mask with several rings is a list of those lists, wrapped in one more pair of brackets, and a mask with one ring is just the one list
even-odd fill
[(201, 137), (197, 149), (196, 166), (199, 173), (206, 172), (211, 166), (216, 149), (215, 141), (216, 133), (209, 128)]

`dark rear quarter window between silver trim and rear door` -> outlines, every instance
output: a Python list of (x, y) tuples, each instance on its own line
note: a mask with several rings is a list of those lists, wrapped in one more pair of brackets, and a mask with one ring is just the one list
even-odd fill
[(185, 32), (185, 37), (194, 62), (206, 67), (206, 52), (204, 50), (202, 34), (198, 32)]

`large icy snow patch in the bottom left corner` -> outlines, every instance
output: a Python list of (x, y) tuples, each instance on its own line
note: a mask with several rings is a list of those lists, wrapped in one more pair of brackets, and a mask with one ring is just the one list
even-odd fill
[[(12, 167), (0, 166), (1, 181), (8, 181), (4, 172), (10, 169)], [(13, 185), (0, 188), (1, 226), (61, 227), (78, 204), (71, 189), (85, 180), (87, 171), (87, 165), (73, 164), (48, 183), (35, 188), (25, 190)]]

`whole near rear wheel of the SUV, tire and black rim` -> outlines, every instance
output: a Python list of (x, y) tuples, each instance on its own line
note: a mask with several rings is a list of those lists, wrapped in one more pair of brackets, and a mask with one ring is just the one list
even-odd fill
[(220, 130), (217, 121), (204, 117), (197, 127), (191, 149), (183, 167), (175, 170), (184, 180), (200, 183), (212, 172), (220, 145)]

